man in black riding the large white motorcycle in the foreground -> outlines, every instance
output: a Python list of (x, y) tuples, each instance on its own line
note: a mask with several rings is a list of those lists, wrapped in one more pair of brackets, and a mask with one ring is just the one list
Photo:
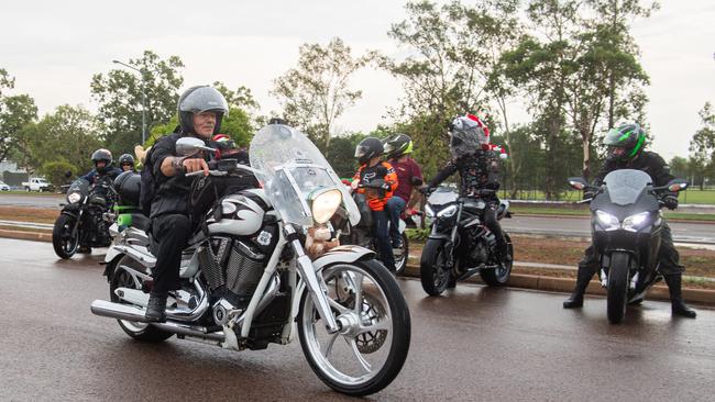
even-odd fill
[(154, 283), (145, 316), (155, 322), (166, 321), (166, 298), (169, 291), (179, 288), (182, 250), (191, 234), (188, 211), (191, 179), (186, 178), (185, 174), (202, 170), (208, 176), (207, 160), (212, 157), (202, 153), (194, 156), (176, 155), (176, 142), (183, 136), (210, 141), (212, 135), (219, 133), (221, 120), (228, 114), (229, 107), (215, 88), (197, 86), (180, 96), (177, 110), (178, 130), (152, 147), (144, 167), (152, 169), (153, 174), (154, 193), (146, 198), (151, 199), (151, 232), (157, 243)]

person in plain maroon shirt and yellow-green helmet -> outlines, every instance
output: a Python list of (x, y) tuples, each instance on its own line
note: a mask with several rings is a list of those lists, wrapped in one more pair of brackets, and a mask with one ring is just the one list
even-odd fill
[(409, 203), (413, 187), (422, 186), (422, 170), (409, 155), (413, 153), (413, 138), (407, 134), (397, 134), (385, 142), (385, 154), (397, 175), (397, 189), (394, 197), (387, 200), (389, 214), (389, 237), (393, 248), (403, 246), (399, 234), (399, 215)]

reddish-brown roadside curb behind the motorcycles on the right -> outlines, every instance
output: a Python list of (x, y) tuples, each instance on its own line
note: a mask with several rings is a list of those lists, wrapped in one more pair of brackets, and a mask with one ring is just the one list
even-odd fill
[[(419, 267), (408, 265), (402, 273), (405, 277), (419, 278)], [(468, 279), (468, 282), (484, 283), (479, 276)], [(572, 278), (542, 277), (536, 275), (512, 273), (508, 282), (509, 288), (532, 289), (547, 292), (571, 293), (576, 281)], [(586, 289), (586, 294), (606, 295), (601, 282), (592, 280)], [(647, 299), (669, 301), (670, 294), (664, 286), (653, 286), (648, 291)], [(683, 299), (686, 302), (696, 304), (715, 305), (715, 290), (706, 289), (683, 289)]]

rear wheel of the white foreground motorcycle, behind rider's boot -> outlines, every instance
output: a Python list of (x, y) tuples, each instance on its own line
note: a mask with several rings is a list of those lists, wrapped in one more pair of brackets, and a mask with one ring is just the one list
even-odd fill
[[(136, 264), (134, 260), (127, 256), (114, 259), (114, 267), (112, 270), (112, 278), (109, 281), (109, 298), (114, 303), (129, 304), (128, 302), (120, 299), (116, 293), (114, 289), (117, 288), (131, 288), (131, 289), (141, 289), (141, 282), (139, 288), (133, 281), (133, 277), (128, 271), (119, 268), (121, 265), (125, 265), (130, 268), (136, 269), (138, 271), (143, 271), (144, 269), (141, 265)], [(147, 323), (136, 323), (132, 321), (117, 320), (119, 326), (127, 333), (127, 335), (133, 337), (136, 340), (146, 342), (146, 343), (158, 343), (170, 338), (174, 334), (170, 332), (162, 331)]]

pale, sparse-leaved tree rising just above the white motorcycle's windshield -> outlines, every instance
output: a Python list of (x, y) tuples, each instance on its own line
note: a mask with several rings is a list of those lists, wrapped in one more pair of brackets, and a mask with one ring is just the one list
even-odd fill
[(274, 80), (272, 94), (284, 118), (328, 153), (336, 120), (362, 97), (362, 91), (350, 88), (350, 77), (374, 57), (373, 53), (353, 57), (339, 37), (324, 47), (304, 44), (298, 66)]

